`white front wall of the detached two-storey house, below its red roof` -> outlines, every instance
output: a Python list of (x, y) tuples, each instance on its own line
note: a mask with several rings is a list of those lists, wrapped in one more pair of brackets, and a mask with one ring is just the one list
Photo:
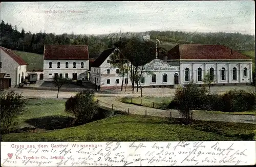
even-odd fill
[[(49, 68), (49, 63), (52, 62), (52, 68)], [(60, 68), (57, 68), (57, 63), (60, 62)], [(66, 62), (69, 63), (69, 67), (66, 68)], [(73, 68), (73, 63), (76, 63), (76, 68)], [(81, 62), (83, 62), (83, 68), (81, 68)], [(44, 60), (44, 80), (51, 80), (54, 77), (54, 73), (68, 74), (69, 78), (73, 77), (73, 73), (77, 73), (77, 78), (79, 79), (79, 74), (85, 74), (84, 78), (87, 77), (87, 72), (89, 70), (89, 60)], [(52, 75), (49, 75), (52, 74)]]

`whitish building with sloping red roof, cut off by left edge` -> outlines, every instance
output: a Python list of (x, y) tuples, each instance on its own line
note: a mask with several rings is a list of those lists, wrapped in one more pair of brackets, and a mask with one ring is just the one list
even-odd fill
[(25, 79), (27, 63), (12, 50), (0, 47), (0, 87), (15, 87)]

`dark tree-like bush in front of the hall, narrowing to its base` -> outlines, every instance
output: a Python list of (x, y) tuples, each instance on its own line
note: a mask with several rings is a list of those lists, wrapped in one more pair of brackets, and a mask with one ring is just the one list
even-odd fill
[(201, 99), (206, 96), (206, 89), (189, 84), (185, 88), (177, 89), (174, 101), (179, 106), (178, 110), (186, 121), (191, 121), (191, 110), (200, 106)]

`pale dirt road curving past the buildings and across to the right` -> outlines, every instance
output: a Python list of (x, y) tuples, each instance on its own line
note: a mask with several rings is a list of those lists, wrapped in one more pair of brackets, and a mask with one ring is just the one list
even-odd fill
[[(51, 91), (51, 90), (27, 90), (27, 89), (16, 89), (13, 88), (17, 93), (23, 93), (23, 96), (26, 98), (56, 98), (57, 91)], [(129, 93), (129, 92), (128, 92)], [(75, 96), (77, 92), (59, 92), (59, 98), (69, 98), (71, 96)], [(99, 100), (99, 104), (103, 106), (108, 106), (114, 109), (126, 111), (129, 108), (129, 113), (131, 114), (137, 114), (137, 115), (145, 115), (145, 109), (146, 114), (150, 116), (158, 116), (158, 117), (170, 117), (170, 112), (172, 112), (172, 117), (174, 118), (180, 118), (180, 114), (178, 110), (172, 109), (172, 110), (162, 110), (162, 109), (156, 109), (151, 107), (144, 107), (139, 105), (133, 105), (133, 104), (126, 104), (122, 103), (120, 101), (121, 97), (124, 96), (139, 96), (139, 93), (120, 93), (120, 91), (104, 91), (104, 92), (97, 92), (96, 94), (97, 99)], [(174, 96), (174, 92), (164, 92), (159, 93), (158, 90), (154, 92), (145, 92), (145, 96)], [(255, 116), (250, 115), (227, 115), (227, 114), (209, 114), (202, 111), (202, 113), (195, 113), (193, 115), (194, 119), (197, 120), (212, 120), (212, 121), (223, 121), (223, 122), (240, 122), (240, 123), (252, 123), (255, 124)]]

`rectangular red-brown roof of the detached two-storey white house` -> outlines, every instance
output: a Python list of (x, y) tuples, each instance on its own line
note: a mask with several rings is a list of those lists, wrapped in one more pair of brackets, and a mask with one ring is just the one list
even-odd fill
[(87, 45), (45, 45), (44, 60), (89, 60)]

